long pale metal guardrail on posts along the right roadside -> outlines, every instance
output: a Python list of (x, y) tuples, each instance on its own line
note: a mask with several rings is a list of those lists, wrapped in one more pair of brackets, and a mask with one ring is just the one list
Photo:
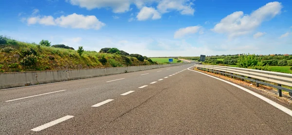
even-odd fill
[(282, 85), (292, 87), (292, 74), (215, 65), (196, 65), (196, 67), (199, 70), (250, 80), (256, 82), (256, 87), (262, 84), (277, 88), (279, 96), (282, 96), (282, 90), (288, 91), (292, 96), (292, 89), (282, 87)]

